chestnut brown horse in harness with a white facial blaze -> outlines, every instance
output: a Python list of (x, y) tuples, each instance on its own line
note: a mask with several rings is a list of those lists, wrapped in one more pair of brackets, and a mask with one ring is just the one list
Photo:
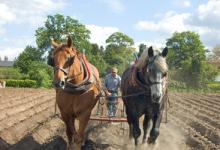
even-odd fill
[[(66, 124), (68, 149), (80, 150), (91, 111), (100, 94), (98, 70), (79, 53), (69, 37), (66, 44), (52, 41), (54, 52), (49, 64), (54, 67), (56, 102)], [(76, 121), (78, 120), (78, 129)]]

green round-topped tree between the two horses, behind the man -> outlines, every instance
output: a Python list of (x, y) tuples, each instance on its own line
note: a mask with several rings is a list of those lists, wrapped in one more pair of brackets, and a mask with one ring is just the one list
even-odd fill
[(106, 43), (104, 55), (104, 59), (108, 64), (106, 71), (115, 66), (119, 69), (119, 74), (121, 74), (134, 60), (132, 55), (134, 41), (129, 36), (116, 32), (107, 38)]

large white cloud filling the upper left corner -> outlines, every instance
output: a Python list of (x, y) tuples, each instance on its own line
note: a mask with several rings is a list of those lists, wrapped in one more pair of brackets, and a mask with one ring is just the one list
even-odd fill
[[(46, 15), (63, 8), (66, 0), (0, 0), (0, 56), (14, 60), (27, 45), (35, 45), (34, 38), (24, 34), (7, 37), (7, 25), (42, 26)], [(25, 37), (26, 36), (26, 37)], [(34, 36), (34, 35), (33, 35)], [(13, 44), (12, 44), (13, 43)]]

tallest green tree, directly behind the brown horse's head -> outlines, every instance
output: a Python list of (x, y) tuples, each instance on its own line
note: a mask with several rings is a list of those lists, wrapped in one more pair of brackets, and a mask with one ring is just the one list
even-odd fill
[(61, 43), (66, 41), (67, 36), (71, 36), (74, 46), (82, 50), (89, 47), (89, 34), (90, 31), (78, 20), (56, 14), (48, 16), (44, 27), (36, 30), (36, 43), (40, 51), (45, 53), (50, 51), (51, 39)]

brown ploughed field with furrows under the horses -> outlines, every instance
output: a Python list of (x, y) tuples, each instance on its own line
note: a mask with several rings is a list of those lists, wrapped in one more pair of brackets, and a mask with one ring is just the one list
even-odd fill
[[(157, 144), (138, 149), (220, 149), (220, 94), (170, 92), (169, 98)], [(54, 106), (54, 90), (0, 89), (0, 150), (66, 149), (65, 125)], [(127, 123), (90, 121), (86, 137), (82, 149), (134, 149)]]

